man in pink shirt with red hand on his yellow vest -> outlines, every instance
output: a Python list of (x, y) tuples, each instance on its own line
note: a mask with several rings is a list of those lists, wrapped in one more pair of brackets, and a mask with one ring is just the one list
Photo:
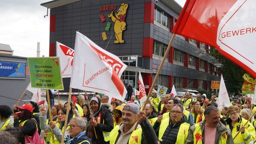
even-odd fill
[(186, 144), (233, 144), (232, 133), (221, 121), (220, 112), (214, 106), (205, 108), (205, 120), (193, 125), (188, 132)]

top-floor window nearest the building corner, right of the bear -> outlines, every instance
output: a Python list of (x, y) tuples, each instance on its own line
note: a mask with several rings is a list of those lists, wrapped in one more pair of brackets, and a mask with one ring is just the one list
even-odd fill
[(167, 13), (165, 13), (161, 9), (155, 8), (154, 20), (161, 26), (164, 26), (165, 28), (169, 29), (170, 16), (168, 16)]

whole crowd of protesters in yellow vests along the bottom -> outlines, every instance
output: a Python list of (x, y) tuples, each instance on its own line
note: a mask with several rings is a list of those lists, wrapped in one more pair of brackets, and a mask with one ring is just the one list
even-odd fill
[(107, 95), (96, 95), (88, 105), (79, 95), (75, 102), (52, 105), (49, 112), (33, 101), (13, 105), (13, 110), (0, 105), (0, 143), (60, 144), (62, 137), (65, 144), (256, 143), (256, 107), (250, 97), (235, 96), (231, 106), (221, 110), (218, 97), (208, 97), (197, 93), (193, 99), (189, 92), (184, 97), (173, 93), (160, 97), (153, 90), (144, 103), (134, 95), (111, 103)]

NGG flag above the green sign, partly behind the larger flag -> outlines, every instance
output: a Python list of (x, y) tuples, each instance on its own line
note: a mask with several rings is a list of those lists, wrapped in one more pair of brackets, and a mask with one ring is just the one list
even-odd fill
[(71, 77), (74, 50), (56, 41), (56, 56), (60, 57), (62, 77)]

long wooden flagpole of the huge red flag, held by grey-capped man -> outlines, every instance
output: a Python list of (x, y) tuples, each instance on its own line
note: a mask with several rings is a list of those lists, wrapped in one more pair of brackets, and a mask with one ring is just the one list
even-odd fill
[[(176, 34), (173, 33), (172, 38), (171, 38), (171, 40), (170, 40), (170, 42), (169, 42), (169, 45), (168, 45), (168, 47), (167, 47), (167, 49), (166, 49), (166, 51), (165, 51), (165, 53), (164, 53), (163, 60), (161, 61), (161, 64), (160, 64), (160, 66), (159, 66), (159, 68), (158, 68), (158, 70), (157, 70), (156, 77), (155, 77), (155, 79), (154, 79), (154, 81), (153, 81), (153, 83), (152, 83), (152, 85), (151, 85), (151, 88), (149, 89), (148, 96), (147, 96), (147, 99), (146, 99), (146, 101), (145, 101), (146, 103), (147, 103), (149, 97), (151, 96), (151, 92), (152, 92), (152, 90), (153, 90), (154, 85), (156, 84), (156, 80), (157, 80), (157, 78), (158, 78), (158, 76), (159, 76), (159, 74), (160, 74), (160, 71), (161, 71), (161, 69), (162, 69), (162, 67), (163, 67), (163, 65), (164, 65), (164, 60), (166, 59), (166, 57), (167, 57), (167, 55), (168, 55), (168, 53), (169, 53), (169, 51), (170, 51), (170, 49), (171, 49), (171, 45), (172, 45), (172, 43), (173, 43), (173, 40), (174, 40), (174, 38), (175, 38), (175, 35), (176, 35)], [(146, 104), (143, 105), (141, 111), (144, 111), (145, 107), (146, 107)], [(134, 130), (137, 129), (138, 124), (139, 124), (139, 121), (136, 122), (136, 125), (135, 125)]]

